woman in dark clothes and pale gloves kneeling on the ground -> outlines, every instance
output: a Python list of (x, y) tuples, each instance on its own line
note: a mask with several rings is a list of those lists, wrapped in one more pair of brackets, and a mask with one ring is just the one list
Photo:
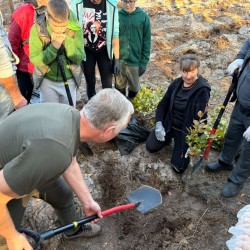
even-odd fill
[(200, 61), (195, 54), (185, 54), (180, 59), (181, 77), (175, 79), (156, 110), (155, 129), (150, 133), (146, 148), (154, 153), (169, 145), (174, 138), (174, 149), (171, 157), (173, 169), (182, 173), (186, 170), (189, 157), (185, 158), (187, 128), (193, 120), (198, 120), (198, 112), (207, 117), (206, 107), (210, 98), (211, 87), (199, 75)]

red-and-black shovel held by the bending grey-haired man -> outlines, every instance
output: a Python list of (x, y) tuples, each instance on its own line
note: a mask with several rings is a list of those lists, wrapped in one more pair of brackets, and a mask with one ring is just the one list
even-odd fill
[[(130, 193), (127, 198), (130, 203), (102, 211), (102, 216), (106, 217), (110, 214), (132, 208), (135, 208), (136, 210), (144, 214), (162, 203), (161, 193), (157, 189), (146, 185)], [(57, 234), (76, 228), (80, 225), (84, 225), (98, 218), (98, 215), (92, 215), (89, 217), (85, 217), (79, 221), (74, 221), (71, 224), (61, 226), (55, 229), (50, 229), (41, 233), (22, 228), (18, 231), (20, 233), (25, 233), (27, 236), (33, 238), (33, 240), (35, 241), (33, 248), (37, 249), (37, 247), (43, 240), (50, 239)]]

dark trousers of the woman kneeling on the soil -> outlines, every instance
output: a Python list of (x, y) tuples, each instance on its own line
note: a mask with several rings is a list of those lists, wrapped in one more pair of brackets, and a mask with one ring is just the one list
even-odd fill
[(185, 158), (185, 153), (188, 149), (188, 145), (182, 145), (182, 131), (171, 128), (171, 130), (166, 133), (165, 141), (157, 140), (155, 136), (155, 130), (153, 130), (146, 142), (146, 148), (149, 152), (154, 153), (161, 150), (164, 146), (169, 145), (174, 139), (174, 148), (171, 156), (171, 165), (174, 169), (177, 169), (178, 172), (183, 172), (186, 170), (189, 164), (189, 157)]

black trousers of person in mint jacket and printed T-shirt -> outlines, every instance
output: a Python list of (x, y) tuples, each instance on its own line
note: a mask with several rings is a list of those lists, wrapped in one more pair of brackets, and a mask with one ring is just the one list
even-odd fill
[(83, 61), (84, 76), (87, 84), (87, 95), (90, 99), (96, 94), (95, 84), (95, 67), (96, 63), (101, 76), (102, 88), (112, 88), (112, 63), (108, 57), (108, 52), (106, 49), (100, 52), (91, 51), (85, 49), (86, 61)]

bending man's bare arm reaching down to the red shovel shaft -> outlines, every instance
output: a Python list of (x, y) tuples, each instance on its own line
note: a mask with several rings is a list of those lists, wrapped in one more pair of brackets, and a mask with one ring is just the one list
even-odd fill
[(70, 166), (63, 173), (63, 177), (82, 203), (86, 216), (97, 214), (102, 218), (101, 208), (92, 198), (92, 195), (84, 182), (76, 157), (73, 157)]

